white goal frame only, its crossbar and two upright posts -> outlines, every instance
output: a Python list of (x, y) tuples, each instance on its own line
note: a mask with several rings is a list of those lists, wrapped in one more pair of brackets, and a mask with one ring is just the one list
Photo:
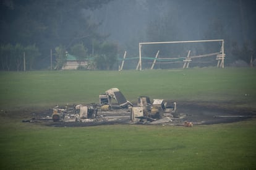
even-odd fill
[[(194, 40), (194, 41), (166, 41), (166, 42), (146, 42), (146, 43), (139, 43), (139, 62), (137, 64), (137, 70), (142, 70), (142, 45), (157, 45), (157, 44), (174, 44), (174, 43), (203, 43), (203, 42), (221, 42), (221, 51), (218, 53), (219, 55), (216, 56), (216, 60), (218, 60), (217, 67), (224, 68), (224, 40)], [(202, 55), (205, 56), (205, 55)], [(187, 56), (189, 57), (189, 55)], [(200, 56), (197, 56), (200, 57)], [(184, 61), (186, 62), (186, 61)]]

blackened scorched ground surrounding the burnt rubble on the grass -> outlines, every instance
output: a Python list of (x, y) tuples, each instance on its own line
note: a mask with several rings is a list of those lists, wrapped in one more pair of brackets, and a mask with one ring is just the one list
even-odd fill
[[(171, 117), (172, 122), (168, 125), (183, 125), (185, 121), (198, 124), (220, 124), (228, 122), (244, 121), (256, 117), (255, 109), (239, 108), (236, 109), (233, 103), (187, 103), (179, 102), (177, 111), (180, 117)], [(0, 115), (10, 119), (24, 121), (31, 120), (42, 125), (53, 127), (84, 127), (92, 125), (113, 125), (130, 124), (130, 113), (121, 113), (114, 115), (101, 115), (101, 119), (93, 122), (53, 122), (51, 120), (52, 111), (50, 109), (23, 109), (20, 111), (1, 111)], [(112, 119), (111, 119), (111, 116)], [(49, 119), (46, 119), (49, 117)], [(109, 118), (110, 117), (110, 118)], [(108, 121), (104, 121), (108, 119)]]

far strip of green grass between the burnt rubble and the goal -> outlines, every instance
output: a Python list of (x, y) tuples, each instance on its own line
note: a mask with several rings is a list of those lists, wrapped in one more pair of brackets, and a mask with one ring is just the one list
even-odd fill
[(255, 69), (0, 72), (0, 106), (45, 107), (97, 103), (117, 87), (127, 100), (150, 96), (176, 101), (247, 103), (256, 101)]

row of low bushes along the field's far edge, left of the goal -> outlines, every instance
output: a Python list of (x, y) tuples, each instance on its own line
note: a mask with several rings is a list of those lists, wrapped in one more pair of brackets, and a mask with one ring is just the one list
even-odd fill
[[(113, 69), (117, 61), (117, 45), (104, 41), (103, 43), (95, 42), (93, 46), (94, 54), (88, 53), (88, 49), (83, 43), (71, 46), (69, 52), (63, 45), (56, 46), (52, 56), (54, 60), (53, 67), (56, 70), (62, 69), (62, 66), (66, 64), (67, 53), (69, 53), (74, 55), (78, 62), (90, 59), (93, 61), (95, 69)], [(0, 70), (34, 70), (40, 56), (40, 51), (35, 45), (22, 46), (19, 43), (0, 45)]]

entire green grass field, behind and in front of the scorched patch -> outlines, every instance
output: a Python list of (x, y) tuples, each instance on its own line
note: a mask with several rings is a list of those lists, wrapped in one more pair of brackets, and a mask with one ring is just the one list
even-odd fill
[(193, 128), (46, 127), (12, 116), (57, 103), (97, 103), (112, 87), (133, 102), (147, 95), (255, 111), (255, 73), (251, 68), (0, 72), (0, 109), (7, 111), (0, 113), (0, 169), (255, 169), (255, 119)]

